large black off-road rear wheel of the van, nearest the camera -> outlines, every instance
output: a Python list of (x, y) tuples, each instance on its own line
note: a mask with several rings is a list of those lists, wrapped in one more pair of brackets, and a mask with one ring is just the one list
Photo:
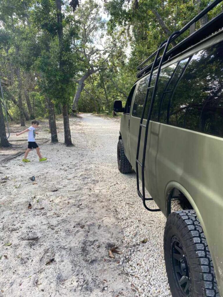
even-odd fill
[(194, 210), (169, 215), (164, 258), (172, 297), (219, 297), (207, 241)]

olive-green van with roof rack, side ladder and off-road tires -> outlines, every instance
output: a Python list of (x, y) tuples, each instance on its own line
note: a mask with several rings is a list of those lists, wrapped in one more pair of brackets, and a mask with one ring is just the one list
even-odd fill
[[(164, 257), (173, 297), (223, 297), (223, 13), (195, 30), (219, 2), (137, 67), (124, 108), (114, 102), (123, 113), (118, 168), (133, 168), (145, 208), (167, 217)], [(169, 49), (186, 30), (189, 36)]]

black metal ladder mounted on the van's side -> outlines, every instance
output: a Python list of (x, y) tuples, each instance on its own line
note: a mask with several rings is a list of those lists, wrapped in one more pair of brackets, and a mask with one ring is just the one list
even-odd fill
[[(149, 123), (150, 123), (150, 117), (151, 117), (151, 113), (152, 113), (152, 108), (153, 108), (153, 103), (154, 103), (154, 99), (155, 99), (155, 94), (156, 94), (156, 88), (157, 88), (157, 84), (158, 84), (158, 78), (159, 78), (159, 74), (160, 74), (160, 70), (161, 70), (161, 66), (162, 63), (164, 61), (167, 49), (169, 47), (170, 42), (172, 41), (172, 38), (175, 37), (175, 35), (179, 35), (180, 32), (176, 31), (174, 33), (172, 33), (170, 35), (170, 37), (168, 38), (168, 40), (164, 41), (161, 43), (161, 45), (159, 46), (158, 50), (156, 51), (156, 57), (153, 61), (153, 66), (151, 68), (151, 72), (150, 72), (150, 78), (149, 78), (149, 82), (148, 82), (148, 87), (147, 87), (147, 92), (146, 92), (146, 97), (145, 97), (145, 101), (144, 101), (144, 105), (142, 108), (142, 116), (141, 116), (141, 120), (140, 120), (140, 125), (139, 125), (139, 136), (138, 136), (138, 144), (137, 144), (137, 152), (136, 152), (136, 179), (137, 179), (137, 192), (139, 197), (142, 199), (143, 201), (143, 205), (144, 207), (148, 210), (148, 211), (160, 211), (160, 209), (156, 208), (149, 208), (146, 205), (146, 200), (153, 200), (153, 198), (146, 198), (145, 197), (145, 177), (144, 177), (144, 169), (145, 169), (145, 154), (146, 154), (146, 145), (147, 145), (147, 136), (148, 136), (148, 128), (149, 128)], [(157, 75), (156, 75), (156, 81), (154, 86), (150, 86), (151, 83), (151, 79), (152, 79), (152, 75), (153, 75), (153, 69), (156, 65), (156, 61), (159, 57), (159, 53), (161, 51), (161, 49), (163, 48), (163, 46), (165, 45), (164, 48), (164, 52), (162, 54), (160, 63), (159, 63), (159, 67), (157, 70)], [(147, 117), (147, 123), (146, 125), (142, 124), (143, 118), (144, 118), (144, 114), (145, 114), (145, 108), (146, 108), (146, 103), (147, 103), (147, 99), (148, 99), (148, 94), (149, 94), (149, 89), (153, 88), (153, 94), (152, 94), (152, 98), (151, 98), (151, 103), (150, 103), (150, 108), (149, 108), (149, 113), (148, 113), (148, 117)], [(142, 162), (139, 161), (139, 148), (140, 148), (140, 140), (141, 140), (141, 134), (142, 134), (142, 127), (145, 128), (145, 139), (144, 139), (144, 144), (143, 144), (143, 156), (142, 156)], [(139, 190), (139, 167), (141, 166), (141, 170), (142, 170), (142, 193)]]

